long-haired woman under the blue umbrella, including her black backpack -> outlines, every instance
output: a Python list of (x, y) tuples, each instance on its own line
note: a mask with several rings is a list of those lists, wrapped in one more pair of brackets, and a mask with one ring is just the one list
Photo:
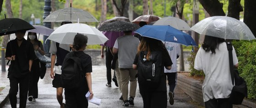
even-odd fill
[(171, 58), (162, 41), (142, 36), (133, 69), (138, 69), (138, 83), (144, 108), (166, 108), (167, 87), (164, 67), (171, 69)]

